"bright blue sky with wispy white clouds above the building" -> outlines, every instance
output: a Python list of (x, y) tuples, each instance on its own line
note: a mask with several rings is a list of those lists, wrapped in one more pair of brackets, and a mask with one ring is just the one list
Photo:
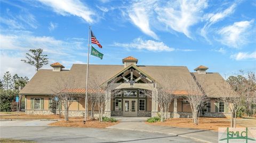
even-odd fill
[[(42, 48), (49, 64), (87, 62), (89, 26), (103, 46), (90, 64), (199, 65), (227, 77), (256, 71), (256, 1), (6, 1), (1, 0), (1, 73), (32, 78), (23, 63)], [(103, 70), (103, 69), (102, 69)]]

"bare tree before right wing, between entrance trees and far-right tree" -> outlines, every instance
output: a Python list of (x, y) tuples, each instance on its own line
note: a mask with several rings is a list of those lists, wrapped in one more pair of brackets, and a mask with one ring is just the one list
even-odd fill
[[(201, 84), (204, 83), (204, 81), (201, 82)], [(202, 107), (209, 102), (209, 98), (205, 95), (201, 87), (202, 85), (199, 85), (199, 82), (196, 81), (195, 84), (194, 81), (183, 80), (183, 85), (186, 91), (185, 99), (189, 102), (191, 107), (193, 123), (197, 125), (199, 123), (200, 111)]]

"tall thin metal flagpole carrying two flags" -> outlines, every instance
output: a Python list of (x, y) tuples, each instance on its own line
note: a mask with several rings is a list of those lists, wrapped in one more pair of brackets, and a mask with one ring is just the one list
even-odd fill
[(88, 32), (88, 53), (87, 53), (87, 70), (86, 70), (86, 87), (85, 87), (85, 114), (84, 114), (84, 121), (86, 122), (87, 118), (87, 89), (88, 89), (88, 74), (89, 74), (89, 51), (90, 51), (90, 31), (91, 26), (89, 26)]

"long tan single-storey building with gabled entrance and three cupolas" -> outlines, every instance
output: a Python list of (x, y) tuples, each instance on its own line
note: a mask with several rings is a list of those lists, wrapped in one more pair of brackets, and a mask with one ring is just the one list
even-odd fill
[[(114, 98), (108, 96), (104, 114), (106, 116), (154, 116), (159, 112), (159, 107), (154, 98), (155, 90), (161, 86), (161, 82), (168, 79), (170, 86), (175, 88), (177, 97), (170, 105), (171, 117), (191, 117), (191, 108), (186, 95), (186, 81), (190, 86), (200, 88), (209, 96), (210, 101), (202, 109), (204, 116), (225, 117), (229, 116), (228, 108), (219, 97), (223, 94), (218, 85), (226, 83), (219, 73), (206, 72), (205, 66), (198, 66), (195, 72), (190, 72), (186, 66), (150, 66), (137, 65), (138, 60), (134, 57), (126, 57), (122, 60), (123, 65), (90, 65), (89, 83), (93, 77), (100, 77), (101, 83), (116, 78), (116, 88), (122, 89), (122, 94)], [(52, 69), (42, 69), (34, 75), (28, 84), (20, 91), (26, 99), (26, 114), (53, 114), (49, 110), (54, 97), (53, 89), (57, 86), (57, 80), (61, 77), (71, 76), (75, 79), (73, 88), (69, 89), (85, 95), (86, 64), (73, 64), (70, 70), (60, 63), (51, 64)], [(174, 82), (175, 81), (175, 82)], [(100, 85), (99, 85), (100, 86)], [(143, 90), (151, 90), (151, 97), (143, 94)], [(89, 103), (90, 106), (90, 103)], [(59, 111), (63, 107), (60, 105)], [(88, 108), (90, 112), (90, 107)], [(97, 109), (97, 108), (96, 108)], [(75, 98), (69, 108), (70, 116), (83, 116), (85, 110), (84, 98)], [(63, 111), (61, 112), (63, 114)]]

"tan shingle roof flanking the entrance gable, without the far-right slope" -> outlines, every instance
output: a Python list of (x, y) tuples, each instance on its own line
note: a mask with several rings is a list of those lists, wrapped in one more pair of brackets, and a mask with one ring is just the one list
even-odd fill
[[(162, 75), (169, 77), (172, 81), (186, 80), (196, 85), (193, 77), (186, 66), (146, 66), (138, 65), (138, 68), (154, 78), (157, 82), (162, 80)], [(123, 65), (90, 65), (89, 66), (89, 83), (93, 77), (100, 77), (101, 83), (107, 81), (115, 74), (124, 69)], [(71, 89), (85, 89), (86, 83), (86, 64), (73, 64), (70, 70), (53, 72), (52, 70), (39, 70), (28, 84), (20, 91), (20, 94), (31, 95), (49, 95), (54, 94), (52, 91), (57, 86), (58, 80), (63, 77), (72, 77), (76, 82)], [(161, 84), (161, 83), (160, 83)], [(170, 84), (175, 86), (177, 93), (184, 94), (185, 86), (182, 82)], [(82, 90), (81, 90), (82, 92)]]

